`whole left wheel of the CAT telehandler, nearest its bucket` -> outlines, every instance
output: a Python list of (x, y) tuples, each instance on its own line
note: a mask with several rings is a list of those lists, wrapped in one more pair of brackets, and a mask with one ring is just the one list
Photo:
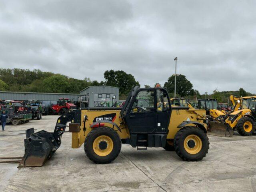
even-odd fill
[(108, 127), (99, 127), (87, 135), (84, 152), (92, 162), (107, 164), (116, 159), (121, 145), (121, 139), (116, 131)]

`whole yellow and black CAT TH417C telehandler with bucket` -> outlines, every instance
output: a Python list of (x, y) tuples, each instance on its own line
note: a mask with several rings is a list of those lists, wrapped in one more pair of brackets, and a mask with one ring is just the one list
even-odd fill
[[(98, 164), (116, 159), (122, 144), (137, 150), (162, 147), (185, 161), (202, 160), (209, 149), (205, 110), (172, 107), (164, 88), (134, 87), (122, 108), (82, 108), (60, 116), (54, 132), (26, 130), (20, 167), (42, 166), (72, 132), (72, 148), (84, 144), (86, 156)], [(66, 124), (69, 131), (66, 131)]]

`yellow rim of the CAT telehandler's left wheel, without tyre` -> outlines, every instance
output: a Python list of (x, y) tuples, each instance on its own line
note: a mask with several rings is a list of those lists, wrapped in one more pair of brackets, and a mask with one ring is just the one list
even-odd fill
[(114, 144), (109, 136), (101, 135), (94, 140), (92, 147), (98, 156), (107, 156), (112, 152)]

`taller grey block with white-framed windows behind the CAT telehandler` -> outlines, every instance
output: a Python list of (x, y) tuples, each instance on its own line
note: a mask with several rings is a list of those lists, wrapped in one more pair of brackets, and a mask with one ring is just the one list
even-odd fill
[[(89, 96), (90, 107), (94, 107), (105, 101), (118, 102), (119, 100), (119, 88), (112, 86), (89, 86), (80, 91), (80, 94)], [(114, 95), (116, 99), (112, 99)], [(101, 98), (99, 96), (101, 96)]]

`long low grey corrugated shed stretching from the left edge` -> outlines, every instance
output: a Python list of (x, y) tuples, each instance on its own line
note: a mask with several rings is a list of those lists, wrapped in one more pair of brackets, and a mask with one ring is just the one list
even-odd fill
[(66, 94), (66, 93), (31, 93), (31, 92), (5, 92), (0, 91), (2, 100), (41, 100), (41, 101), (58, 101), (59, 98), (69, 98), (77, 101), (78, 97), (83, 94)]

